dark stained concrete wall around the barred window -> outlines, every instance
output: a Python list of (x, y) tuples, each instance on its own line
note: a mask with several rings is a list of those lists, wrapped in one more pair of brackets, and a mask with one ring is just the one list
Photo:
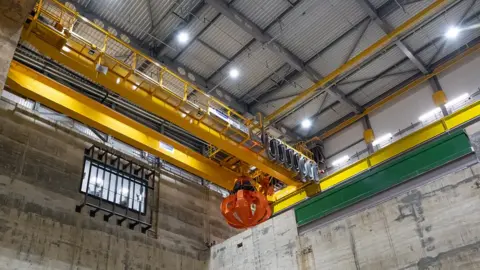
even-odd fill
[(220, 195), (165, 174), (148, 234), (76, 213), (84, 147), (0, 111), (0, 269), (204, 269), (205, 242), (236, 233)]

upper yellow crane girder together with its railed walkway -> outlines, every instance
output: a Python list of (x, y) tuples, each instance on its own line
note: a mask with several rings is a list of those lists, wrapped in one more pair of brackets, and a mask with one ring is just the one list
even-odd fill
[[(96, 38), (76, 33), (85, 27), (89, 31), (84, 32), (93, 31), (91, 35)], [(292, 172), (265, 156), (261, 142), (251, 138), (250, 129), (242, 130), (241, 125), (248, 127), (249, 120), (56, 0), (39, 2), (25, 24), (22, 39), (55, 61), (283, 183), (301, 184)], [(196, 97), (194, 101), (189, 95)]]

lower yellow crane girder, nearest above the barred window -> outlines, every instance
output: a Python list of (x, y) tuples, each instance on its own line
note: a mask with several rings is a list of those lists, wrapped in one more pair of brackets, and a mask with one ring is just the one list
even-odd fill
[[(10, 66), (7, 85), (28, 98), (152, 153), (219, 186), (227, 189), (233, 187), (236, 173), (16, 61), (12, 61)], [(172, 146), (174, 149), (165, 149), (160, 146), (160, 143)]]

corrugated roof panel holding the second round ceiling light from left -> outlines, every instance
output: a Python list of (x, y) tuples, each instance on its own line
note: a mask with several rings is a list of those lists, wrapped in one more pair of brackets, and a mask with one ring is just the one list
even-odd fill
[[(222, 88), (227, 89), (235, 98), (239, 98), (283, 64), (283, 60), (278, 55), (264, 48), (259, 42), (254, 42), (237, 56), (234, 62), (217, 73), (212, 81), (215, 84), (220, 83)], [(231, 68), (237, 68), (240, 71), (240, 78), (225, 79)]]

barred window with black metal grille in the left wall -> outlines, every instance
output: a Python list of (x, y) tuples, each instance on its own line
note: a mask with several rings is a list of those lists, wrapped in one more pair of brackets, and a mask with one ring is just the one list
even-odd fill
[[(104, 213), (104, 221), (117, 216), (117, 225), (128, 220), (128, 227), (141, 226), (146, 233), (152, 227), (154, 206), (149, 194), (155, 190), (156, 171), (96, 146), (85, 150), (80, 191), (83, 202), (75, 210), (88, 206), (90, 216)], [(157, 179), (158, 180), (158, 179)]]

